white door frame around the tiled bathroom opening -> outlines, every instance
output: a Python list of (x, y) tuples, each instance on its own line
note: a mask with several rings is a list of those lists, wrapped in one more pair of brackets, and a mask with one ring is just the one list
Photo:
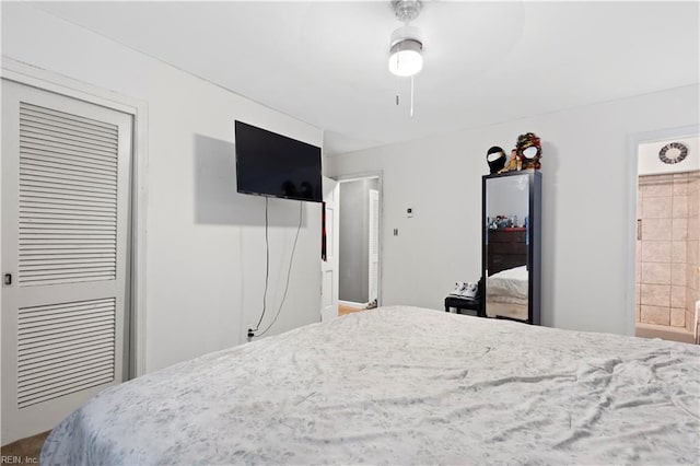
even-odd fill
[(664, 139), (682, 138), (700, 135), (700, 125), (680, 126), (677, 128), (656, 129), (637, 132), (628, 136), (628, 170), (627, 170), (627, 264), (626, 264), (626, 298), (625, 322), (626, 335), (634, 335), (634, 270), (637, 267), (637, 201), (639, 196), (639, 144)]

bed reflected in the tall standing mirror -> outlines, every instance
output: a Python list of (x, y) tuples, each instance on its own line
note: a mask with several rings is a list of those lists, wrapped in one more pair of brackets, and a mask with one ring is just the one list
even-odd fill
[(527, 279), (526, 266), (501, 270), (488, 277), (486, 287), (487, 316), (527, 321)]

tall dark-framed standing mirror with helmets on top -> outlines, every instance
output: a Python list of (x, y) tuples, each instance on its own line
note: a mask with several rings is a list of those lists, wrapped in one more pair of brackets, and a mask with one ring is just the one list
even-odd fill
[(485, 313), (539, 325), (541, 173), (486, 175), (482, 180)]

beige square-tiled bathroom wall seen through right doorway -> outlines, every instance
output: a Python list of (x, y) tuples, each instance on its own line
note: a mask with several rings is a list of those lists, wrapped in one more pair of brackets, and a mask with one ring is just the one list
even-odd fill
[(700, 178), (639, 177), (637, 322), (692, 328), (700, 299)]

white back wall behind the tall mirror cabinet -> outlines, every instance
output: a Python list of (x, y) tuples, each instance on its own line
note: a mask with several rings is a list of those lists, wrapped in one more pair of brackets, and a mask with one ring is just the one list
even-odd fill
[(508, 152), (535, 132), (544, 144), (542, 323), (629, 334), (629, 137), (697, 125), (699, 97), (692, 85), (330, 156), (327, 173), (384, 172), (384, 304), (442, 308), (455, 281), (480, 276), (487, 150)]

